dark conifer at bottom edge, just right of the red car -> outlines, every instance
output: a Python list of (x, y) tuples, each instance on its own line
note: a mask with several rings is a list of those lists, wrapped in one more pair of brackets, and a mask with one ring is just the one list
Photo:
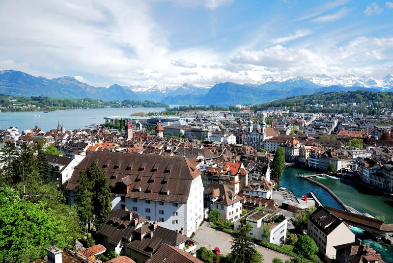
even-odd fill
[(252, 245), (252, 239), (248, 235), (253, 227), (249, 224), (241, 224), (232, 242), (233, 263), (261, 263), (263, 256)]

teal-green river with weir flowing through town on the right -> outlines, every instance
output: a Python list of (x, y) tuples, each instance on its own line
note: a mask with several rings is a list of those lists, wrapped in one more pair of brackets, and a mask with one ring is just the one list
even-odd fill
[[(322, 187), (304, 180), (300, 175), (315, 174), (314, 171), (288, 167), (282, 175), (281, 186), (293, 191), (296, 196), (308, 194), (313, 191), (324, 206), (331, 206), (342, 209), (337, 201)], [(393, 223), (393, 200), (389, 197), (378, 195), (365, 187), (359, 187), (345, 179), (332, 176), (314, 177), (313, 180), (329, 187), (344, 204), (354, 209), (369, 213), (372, 216), (384, 215), (388, 223)], [(373, 194), (371, 194), (373, 193)], [(382, 255), (386, 263), (393, 263), (393, 247), (383, 243), (378, 243), (358, 229), (351, 229), (357, 238), (362, 239), (362, 243), (369, 243), (370, 246)]]

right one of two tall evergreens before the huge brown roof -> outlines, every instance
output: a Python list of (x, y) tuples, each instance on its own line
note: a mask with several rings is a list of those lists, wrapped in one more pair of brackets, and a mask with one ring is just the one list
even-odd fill
[(102, 171), (97, 163), (93, 163), (89, 170), (90, 177), (94, 180), (93, 204), (95, 220), (94, 224), (100, 226), (111, 212), (111, 190), (107, 173)]

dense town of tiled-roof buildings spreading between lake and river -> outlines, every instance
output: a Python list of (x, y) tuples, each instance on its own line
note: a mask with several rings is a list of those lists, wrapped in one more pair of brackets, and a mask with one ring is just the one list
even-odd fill
[[(202, 243), (199, 233), (218, 229), (214, 231), (233, 234), (241, 222), (252, 225), (249, 236), (265, 242), (261, 243), (264, 250), (257, 246), (265, 255), (270, 249), (266, 243), (280, 247), (293, 233), (307, 232), (322, 261), (384, 262), (375, 250), (355, 240), (338, 212), (321, 206), (316, 197), (307, 203), (306, 197), (278, 189), (272, 170), (275, 154), (282, 148), (286, 166), (348, 176), (393, 193), (392, 116), (272, 108), (138, 119), (112, 116), (105, 123), (120, 119), (123, 131), (109, 125), (68, 131), (59, 124), (51, 131), (39, 127), (0, 131), (0, 148), (11, 141), (17, 148), (26, 144), (36, 149), (42, 144), (56, 151), (46, 155), (51, 178), (70, 206), (78, 203), (74, 193), (81, 171), (95, 163), (108, 177), (112, 211), (96, 229), (98, 244), (48, 248), (52, 262), (61, 262), (56, 255), (63, 255), (63, 262), (68, 256), (93, 262), (108, 251), (119, 256), (107, 262), (154, 263), (172, 258), (176, 260), (169, 262), (203, 262), (195, 256), (208, 244)], [(302, 211), (309, 211), (303, 230), (293, 222)], [(212, 217), (216, 213), (217, 218)], [(374, 220), (359, 212), (352, 216)], [(392, 235), (392, 225), (377, 221), (379, 234)], [(210, 242), (221, 246), (220, 239)], [(284, 260), (294, 257), (271, 251)]]

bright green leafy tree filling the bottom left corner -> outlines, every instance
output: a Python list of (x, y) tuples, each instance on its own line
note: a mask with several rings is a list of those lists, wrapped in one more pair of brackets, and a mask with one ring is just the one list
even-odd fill
[(47, 247), (64, 247), (65, 222), (42, 202), (25, 203), (14, 198), (19, 195), (7, 186), (0, 187), (0, 258), (6, 262), (31, 262), (46, 254)]

